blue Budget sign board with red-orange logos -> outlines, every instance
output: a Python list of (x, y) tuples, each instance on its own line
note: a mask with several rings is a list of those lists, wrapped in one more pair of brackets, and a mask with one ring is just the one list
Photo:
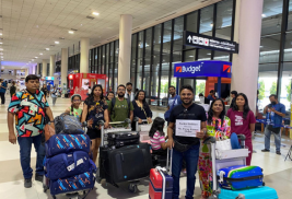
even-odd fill
[(194, 61), (174, 63), (175, 78), (218, 77), (231, 78), (232, 63), (227, 61)]

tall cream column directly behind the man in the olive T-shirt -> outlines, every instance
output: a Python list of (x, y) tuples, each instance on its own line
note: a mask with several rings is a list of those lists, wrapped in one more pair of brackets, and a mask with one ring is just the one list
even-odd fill
[(129, 14), (120, 15), (118, 84), (126, 84), (127, 82), (130, 81), (131, 34), (132, 34), (132, 16)]

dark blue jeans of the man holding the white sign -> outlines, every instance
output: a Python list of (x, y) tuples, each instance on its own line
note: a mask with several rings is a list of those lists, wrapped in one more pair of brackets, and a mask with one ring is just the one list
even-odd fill
[(189, 150), (185, 152), (173, 150), (173, 199), (178, 199), (179, 197), (179, 176), (182, 171), (183, 160), (186, 161), (187, 168), (187, 192), (186, 199), (192, 199), (195, 191), (195, 183), (196, 183), (196, 173), (197, 165), (199, 160), (200, 144), (192, 145)]

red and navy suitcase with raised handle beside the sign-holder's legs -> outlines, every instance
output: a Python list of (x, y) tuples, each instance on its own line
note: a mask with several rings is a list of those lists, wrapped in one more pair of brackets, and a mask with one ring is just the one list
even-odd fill
[[(168, 166), (171, 162), (171, 166)], [(173, 177), (167, 173), (172, 169), (172, 151), (171, 161), (168, 162), (168, 149), (166, 168), (157, 166), (150, 171), (149, 198), (150, 199), (168, 199), (173, 196)]]

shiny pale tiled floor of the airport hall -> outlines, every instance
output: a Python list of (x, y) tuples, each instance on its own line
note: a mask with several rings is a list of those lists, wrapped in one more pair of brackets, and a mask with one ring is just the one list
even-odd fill
[[(48, 99), (51, 105), (51, 98)], [(20, 166), (20, 153), (19, 145), (11, 144), (8, 141), (8, 127), (7, 127), (7, 108), (9, 98), (5, 105), (0, 106), (0, 198), (1, 199), (45, 199), (51, 198), (49, 194), (43, 192), (43, 185), (38, 182), (33, 182), (33, 187), (25, 189), (23, 187), (23, 177)], [(70, 105), (69, 99), (58, 98), (57, 105), (51, 107), (55, 116), (60, 115), (66, 107)], [(162, 112), (154, 112), (154, 116), (163, 117)], [(283, 137), (282, 142), (287, 145), (282, 148), (282, 155), (275, 153), (275, 144), (271, 144), (272, 149), (270, 153), (261, 153), (264, 148), (264, 136), (257, 134), (254, 140), (254, 149), (257, 153), (253, 154), (253, 165), (258, 165), (264, 168), (265, 183), (267, 186), (273, 187), (279, 195), (280, 199), (292, 198), (292, 162), (284, 162), (284, 156), (291, 145), (291, 140)], [(32, 165), (35, 167), (35, 152), (32, 150)], [(120, 188), (113, 187), (105, 182), (95, 184), (95, 189), (89, 195), (89, 199), (145, 199), (148, 198), (148, 179), (142, 180), (139, 185), (138, 194), (130, 194), (128, 191), (128, 185), (122, 184)], [(184, 198), (186, 191), (186, 177), (180, 179), (180, 198)], [(195, 199), (198, 199), (200, 195), (200, 188), (198, 180), (196, 182)], [(60, 197), (63, 198), (63, 197)]]

